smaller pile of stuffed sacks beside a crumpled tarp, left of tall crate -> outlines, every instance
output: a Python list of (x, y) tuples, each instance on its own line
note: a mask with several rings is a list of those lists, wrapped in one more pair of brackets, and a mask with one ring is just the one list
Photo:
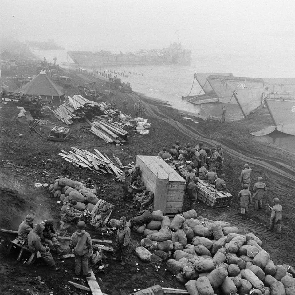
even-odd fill
[(69, 178), (58, 178), (49, 187), (54, 197), (59, 198), (61, 203), (77, 201), (75, 209), (84, 211), (88, 209), (90, 212), (99, 201), (96, 189), (85, 187), (82, 182)]

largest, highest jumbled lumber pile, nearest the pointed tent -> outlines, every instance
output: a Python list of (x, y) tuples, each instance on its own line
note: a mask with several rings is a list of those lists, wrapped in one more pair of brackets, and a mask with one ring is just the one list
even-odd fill
[(57, 119), (67, 125), (73, 124), (75, 120), (83, 120), (86, 117), (106, 115), (108, 118), (114, 118), (120, 114), (120, 111), (111, 108), (108, 102), (93, 102), (81, 95), (68, 96), (68, 100), (56, 109), (46, 107), (53, 112)]

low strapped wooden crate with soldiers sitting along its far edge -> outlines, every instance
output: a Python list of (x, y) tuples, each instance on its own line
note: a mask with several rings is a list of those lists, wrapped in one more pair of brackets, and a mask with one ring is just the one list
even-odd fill
[(233, 196), (230, 193), (219, 192), (215, 189), (215, 185), (206, 180), (199, 179), (198, 186), (197, 199), (211, 208), (227, 207), (233, 202)]

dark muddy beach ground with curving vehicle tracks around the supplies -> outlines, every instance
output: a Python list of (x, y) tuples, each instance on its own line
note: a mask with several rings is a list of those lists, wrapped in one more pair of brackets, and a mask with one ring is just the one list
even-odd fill
[[(70, 73), (73, 87), (65, 90), (67, 95), (78, 94), (77, 85), (85, 82), (96, 81), (99, 91), (105, 92), (103, 81), (88, 75)], [(16, 89), (12, 78), (4, 77), (3, 82), (10, 86), (10, 90)], [(118, 108), (122, 108), (123, 96), (128, 98), (130, 114), (134, 116), (133, 104), (140, 97), (139, 94), (120, 93), (114, 90), (114, 102)], [(92, 178), (98, 186), (104, 187), (105, 193), (100, 197), (115, 205), (111, 218), (119, 218), (125, 215), (130, 218), (135, 215), (131, 209), (131, 202), (121, 201), (120, 185), (114, 181), (114, 176), (98, 176), (86, 169), (76, 168), (64, 161), (58, 153), (60, 149), (70, 150), (71, 146), (93, 151), (98, 149), (109, 157), (113, 154), (119, 156), (123, 165), (135, 162), (136, 155), (156, 155), (162, 146), (170, 146), (176, 140), (182, 144), (190, 142), (195, 146), (199, 140), (205, 146), (213, 146), (220, 143), (224, 149), (225, 162), (223, 173), (226, 174), (226, 184), (230, 193), (234, 196), (233, 205), (227, 208), (214, 209), (197, 203), (198, 215), (213, 219), (229, 221), (237, 226), (241, 233), (252, 232), (263, 241), (275, 264), (288, 263), (293, 265), (295, 255), (295, 166), (294, 154), (278, 149), (264, 143), (253, 143), (249, 131), (251, 128), (271, 124), (271, 118), (267, 110), (261, 110), (257, 114), (250, 115), (247, 119), (236, 122), (218, 124), (216, 121), (200, 121), (194, 123), (182, 118), (175, 109), (163, 106), (157, 100), (141, 96), (146, 109), (145, 118), (151, 123), (150, 134), (140, 136), (132, 134), (128, 143), (123, 146), (106, 144), (87, 131), (86, 122), (75, 122), (71, 126), (71, 137), (66, 142), (51, 142), (46, 140), (53, 126), (65, 126), (49, 112), (42, 118), (46, 124), (39, 127), (38, 131), (43, 137), (33, 133), (29, 134), (29, 126), (17, 124), (7, 110), (0, 109), (0, 228), (17, 230), (19, 223), (27, 213), (35, 214), (35, 223), (46, 218), (53, 217), (58, 224), (61, 205), (45, 188), (35, 187), (35, 183), (51, 183), (57, 176), (86, 180)], [(103, 99), (105, 101), (106, 99)], [(19, 137), (19, 134), (23, 134)], [(9, 163), (6, 163), (9, 160)], [(250, 206), (250, 212), (246, 220), (242, 220), (239, 214), (236, 196), (240, 190), (239, 177), (245, 163), (249, 163), (253, 169), (252, 186), (257, 177), (262, 176), (267, 185), (267, 193), (264, 197), (263, 210), (254, 211)], [(267, 204), (272, 204), (272, 199), (279, 197), (283, 206), (282, 238), (276, 239), (275, 234), (268, 230), (270, 212)], [(187, 200), (184, 202), (183, 211), (188, 209)], [(100, 233), (91, 225), (87, 226), (92, 238), (108, 239), (115, 241), (116, 233)], [(70, 233), (68, 233), (70, 236)], [(1, 244), (0, 274), (2, 284), (1, 294), (86, 294), (69, 285), (67, 281), (73, 281), (74, 259), (57, 260), (59, 272), (49, 271), (39, 263), (27, 267), (23, 262), (28, 258), (24, 256), (21, 262), (16, 262), (17, 251), (10, 256), (3, 255), (7, 241), (14, 238), (13, 235), (1, 233), (4, 240)], [(129, 247), (128, 265), (122, 267), (111, 260), (112, 255), (107, 253), (104, 261), (109, 267), (104, 272), (94, 269), (96, 278), (106, 294), (127, 294), (134, 289), (144, 289), (154, 284), (163, 287), (183, 289), (184, 285), (176, 281), (171, 273), (165, 271), (165, 262), (153, 257), (152, 262), (144, 264), (134, 255), (134, 249), (139, 245), (142, 236), (132, 232), (132, 242)], [(69, 247), (62, 243), (62, 248), (69, 253)], [(112, 244), (115, 246), (115, 243)], [(55, 257), (56, 258), (56, 257)], [(41, 277), (41, 282), (35, 278)], [(101, 279), (101, 280), (100, 280)], [(87, 285), (83, 279), (75, 280)]]

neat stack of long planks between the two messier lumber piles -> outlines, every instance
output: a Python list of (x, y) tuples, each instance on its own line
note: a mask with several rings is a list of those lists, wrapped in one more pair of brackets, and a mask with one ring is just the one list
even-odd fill
[(91, 123), (88, 119), (86, 121), (90, 124), (90, 132), (101, 138), (106, 143), (125, 143), (128, 131), (109, 123), (105, 120), (96, 120)]

